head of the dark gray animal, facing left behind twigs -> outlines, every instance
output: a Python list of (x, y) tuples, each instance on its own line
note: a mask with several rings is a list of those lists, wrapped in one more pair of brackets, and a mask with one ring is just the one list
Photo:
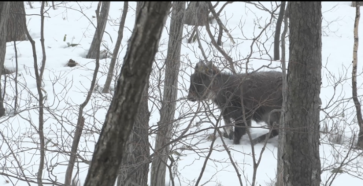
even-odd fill
[(207, 63), (199, 61), (194, 67), (194, 74), (190, 76), (188, 100), (202, 101), (210, 98), (212, 95), (211, 83), (214, 75), (218, 73), (220, 71), (212, 61)]

